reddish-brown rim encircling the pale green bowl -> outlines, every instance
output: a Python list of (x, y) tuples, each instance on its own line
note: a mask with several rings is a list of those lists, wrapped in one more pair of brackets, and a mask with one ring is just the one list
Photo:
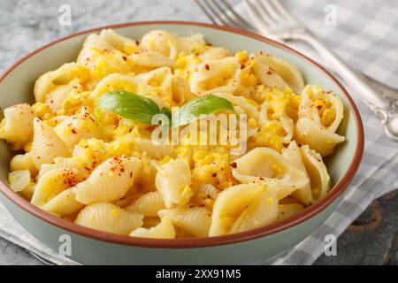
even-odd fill
[(113, 234), (113, 233), (104, 233), (100, 231), (96, 231), (93, 229), (89, 229), (87, 227), (83, 226), (78, 226), (73, 223), (67, 222), (63, 219), (56, 218), (55, 216), (51, 215), (50, 213), (47, 213), (37, 207), (35, 207), (33, 204), (28, 203), (22, 196), (16, 194), (11, 190), (11, 188), (4, 183), (3, 180), (0, 180), (0, 191), (9, 199), (11, 200), (12, 203), (17, 204), (20, 208), (23, 210), (26, 210), (28, 213), (34, 215), (37, 218), (42, 219), (43, 221), (49, 223), (50, 225), (57, 226), (61, 229), (64, 229), (66, 231), (72, 232), (72, 233), (77, 233), (83, 236), (86, 236), (91, 239), (95, 239), (98, 241), (108, 241), (112, 243), (117, 243), (117, 244), (123, 244), (123, 245), (130, 245), (130, 246), (139, 246), (139, 247), (149, 247), (149, 248), (200, 248), (200, 247), (211, 247), (211, 246), (218, 246), (218, 245), (225, 245), (225, 244), (231, 244), (231, 243), (236, 243), (236, 242), (241, 242), (241, 241), (249, 241), (249, 240), (254, 240), (259, 237), (264, 237), (266, 235), (270, 235), (272, 233), (278, 233), (280, 231), (283, 231), (291, 226), (296, 226), (319, 212), (325, 210), (329, 204), (333, 203), (334, 200), (336, 200), (348, 187), (348, 184), (350, 181), (353, 179), (354, 175), (356, 174), (356, 171), (359, 167), (359, 164), (361, 162), (363, 153), (364, 153), (364, 126), (362, 123), (361, 116), (359, 115), (359, 111), (356, 108), (356, 104), (352, 100), (352, 98), (348, 95), (348, 92), (345, 88), (341, 86), (341, 83), (336, 80), (331, 73), (325, 70), (324, 67), (321, 65), (318, 65), (318, 63), (314, 62), (311, 60), (309, 57), (306, 57), (302, 55), (300, 52), (291, 49), (290, 47), (287, 47), (284, 44), (281, 44), (279, 42), (274, 42), (268, 38), (265, 38), (261, 35), (258, 34), (253, 34), (247, 31), (243, 31), (237, 28), (233, 27), (219, 27), (215, 26), (212, 24), (205, 24), (205, 23), (200, 23), (200, 22), (193, 22), (193, 21), (142, 21), (142, 22), (131, 22), (131, 23), (125, 23), (125, 24), (118, 24), (118, 25), (111, 25), (111, 26), (106, 26), (106, 27), (96, 27), (94, 29), (86, 30), (86, 31), (81, 31), (79, 33), (75, 34), (70, 34), (68, 36), (65, 36), (64, 38), (61, 38), (55, 42), (50, 42), (41, 48), (34, 50), (27, 54), (27, 56), (22, 57), (17, 61), (14, 65), (11, 65), (9, 69), (7, 69), (1, 76), (0, 76), (0, 82), (4, 80), (4, 78), (12, 72), (13, 69), (15, 69), (18, 65), (26, 61), (29, 57), (34, 56), (36, 53), (45, 50), (49, 48), (50, 46), (57, 44), (58, 42), (63, 42), (67, 39), (70, 39), (74, 36), (78, 36), (80, 34), (89, 34), (92, 32), (97, 32), (99, 30), (102, 30), (103, 28), (120, 28), (120, 27), (132, 27), (132, 26), (144, 26), (144, 25), (185, 25), (185, 26), (199, 26), (199, 27), (209, 27), (213, 29), (218, 29), (218, 30), (223, 30), (226, 32), (234, 33), (234, 34), (241, 34), (245, 36), (249, 36), (251, 38), (254, 38), (260, 42), (266, 42), (268, 44), (271, 44), (273, 46), (276, 46), (282, 50), (286, 50), (292, 54), (294, 54), (297, 57), (301, 57), (305, 61), (307, 61), (311, 65), (315, 65), (318, 67), (318, 69), (325, 73), (333, 82), (341, 88), (341, 91), (343, 94), (346, 96), (349, 104), (349, 108), (351, 109), (352, 113), (355, 116), (356, 120), (356, 152), (355, 156), (351, 161), (351, 164), (349, 164), (348, 171), (344, 174), (344, 176), (341, 178), (341, 180), (334, 185), (333, 189), (325, 195), (324, 198), (319, 200), (317, 203), (312, 204), (310, 207), (300, 211), (299, 213), (295, 214), (295, 216), (291, 218), (287, 218), (285, 220), (282, 220), (278, 223), (272, 224), (271, 226), (265, 226), (261, 228), (257, 228), (255, 230), (251, 230), (248, 232), (243, 232), (243, 233), (235, 233), (231, 235), (226, 235), (226, 236), (217, 236), (217, 237), (210, 237), (210, 238), (193, 238), (193, 239), (145, 239), (145, 238), (133, 238), (133, 237), (128, 237), (124, 235), (118, 235), (118, 234)]

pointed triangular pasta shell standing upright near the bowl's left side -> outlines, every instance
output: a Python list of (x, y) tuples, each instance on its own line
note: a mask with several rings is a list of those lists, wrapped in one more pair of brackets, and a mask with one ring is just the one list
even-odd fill
[(70, 157), (71, 153), (54, 129), (44, 124), (42, 120), (35, 118), (34, 140), (30, 156), (34, 166), (40, 169), (42, 164), (50, 164), (56, 157)]

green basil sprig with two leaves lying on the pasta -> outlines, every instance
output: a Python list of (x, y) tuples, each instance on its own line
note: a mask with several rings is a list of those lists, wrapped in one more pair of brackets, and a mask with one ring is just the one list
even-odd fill
[(202, 115), (210, 115), (221, 110), (234, 111), (232, 103), (225, 98), (210, 95), (193, 99), (172, 114), (165, 107), (160, 111), (152, 99), (126, 90), (110, 91), (100, 96), (96, 101), (97, 118), (101, 117), (102, 110), (113, 111), (123, 118), (145, 124), (152, 124), (155, 115), (164, 114), (166, 119), (162, 121), (166, 120), (173, 127), (188, 125), (202, 118)]

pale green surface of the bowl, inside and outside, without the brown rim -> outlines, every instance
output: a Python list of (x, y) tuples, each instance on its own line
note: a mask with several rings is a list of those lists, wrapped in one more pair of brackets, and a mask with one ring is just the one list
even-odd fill
[[(357, 147), (361, 146), (361, 142), (363, 142), (359, 140), (357, 135), (358, 128), (354, 115), (348, 107), (348, 100), (343, 95), (341, 88), (329, 76), (302, 57), (243, 34), (195, 26), (193, 23), (191, 25), (146, 23), (139, 26), (114, 27), (114, 29), (118, 33), (132, 38), (140, 38), (142, 34), (152, 29), (165, 29), (180, 35), (200, 33), (204, 34), (207, 42), (215, 46), (224, 46), (233, 51), (249, 50), (249, 52), (256, 52), (265, 50), (292, 62), (302, 72), (307, 83), (318, 84), (325, 89), (332, 90), (341, 97), (345, 104), (345, 117), (339, 128), (339, 133), (344, 134), (347, 141), (336, 149), (333, 157), (326, 158), (325, 162), (333, 184), (337, 184), (348, 171), (348, 166), (354, 159)], [(57, 42), (34, 54), (34, 56), (28, 57), (27, 60), (16, 66), (0, 82), (1, 109), (15, 103), (32, 103), (34, 101), (34, 80), (42, 73), (55, 70), (60, 65), (75, 60), (86, 36), (87, 34), (80, 34), (65, 41)], [(362, 127), (362, 124), (360, 126)], [(4, 182), (8, 179), (11, 156), (12, 153), (7, 144), (4, 141), (0, 142), (0, 178)], [(72, 239), (72, 256), (70, 257), (80, 264), (249, 264), (258, 260), (270, 260), (302, 241), (330, 216), (337, 205), (341, 203), (342, 196), (339, 195), (325, 210), (320, 211), (312, 218), (278, 233), (226, 245), (178, 249), (148, 248), (98, 241), (52, 226), (21, 209), (3, 194), (0, 194), (0, 200), (29, 233), (51, 249), (58, 250), (61, 244), (59, 241), (60, 235), (70, 235)]]

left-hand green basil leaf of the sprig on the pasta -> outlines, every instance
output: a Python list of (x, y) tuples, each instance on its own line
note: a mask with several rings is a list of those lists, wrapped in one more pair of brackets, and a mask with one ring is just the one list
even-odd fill
[(110, 91), (100, 96), (96, 101), (97, 117), (101, 110), (113, 111), (123, 118), (145, 124), (150, 124), (152, 116), (159, 113), (159, 107), (152, 99), (126, 90)]

